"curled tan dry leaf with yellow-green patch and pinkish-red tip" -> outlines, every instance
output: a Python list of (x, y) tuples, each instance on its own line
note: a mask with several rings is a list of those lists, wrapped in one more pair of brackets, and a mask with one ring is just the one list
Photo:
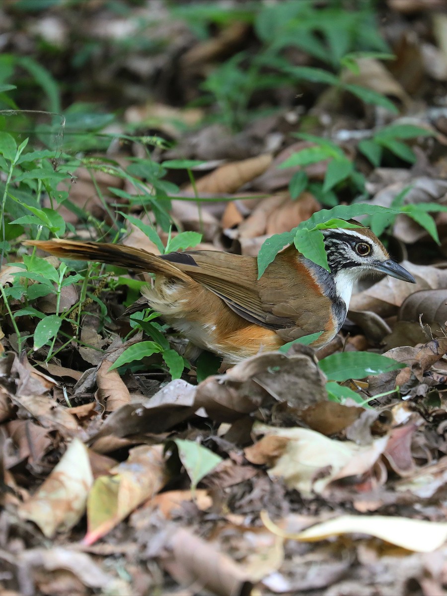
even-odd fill
[(88, 495), (88, 532), (84, 544), (93, 544), (121, 522), (167, 482), (163, 445), (141, 445), (128, 460), (95, 480)]

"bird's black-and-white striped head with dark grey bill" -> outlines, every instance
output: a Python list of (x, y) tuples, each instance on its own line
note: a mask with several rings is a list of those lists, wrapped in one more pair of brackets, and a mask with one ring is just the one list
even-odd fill
[[(353, 222), (357, 223), (357, 222)], [(361, 225), (361, 224), (359, 224)], [(415, 284), (414, 277), (390, 256), (377, 236), (368, 228), (324, 229), (328, 265), (334, 279), (353, 284), (364, 275), (384, 273)]]

